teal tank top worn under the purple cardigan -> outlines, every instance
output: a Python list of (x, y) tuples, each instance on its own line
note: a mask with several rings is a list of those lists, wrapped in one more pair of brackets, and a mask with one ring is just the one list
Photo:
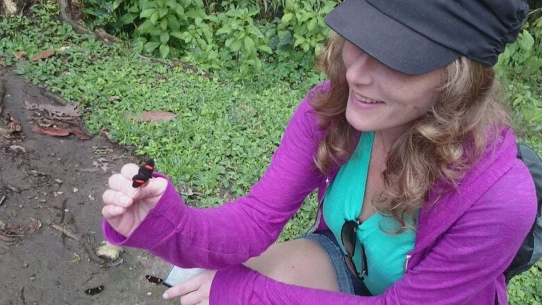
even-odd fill
[[(364, 132), (354, 154), (329, 184), (324, 197), (325, 222), (345, 253), (340, 230), (345, 220), (356, 220), (361, 213), (367, 174), (369, 171), (372, 142), (375, 132)], [(375, 213), (357, 230), (354, 263), (361, 266), (360, 243), (365, 247), (368, 275), (363, 283), (372, 295), (379, 295), (403, 277), (406, 256), (414, 247), (416, 233), (412, 230), (400, 234), (385, 233), (399, 228), (393, 217)]]

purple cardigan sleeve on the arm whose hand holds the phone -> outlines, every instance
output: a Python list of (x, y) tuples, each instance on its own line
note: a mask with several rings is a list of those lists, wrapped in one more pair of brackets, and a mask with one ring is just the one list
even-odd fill
[[(502, 277), (536, 215), (534, 186), (525, 171), (512, 167), (381, 295), (292, 286), (236, 265), (215, 275), (211, 304), (493, 304), (495, 290), (488, 286)], [(488, 294), (481, 297), (482, 291)]]

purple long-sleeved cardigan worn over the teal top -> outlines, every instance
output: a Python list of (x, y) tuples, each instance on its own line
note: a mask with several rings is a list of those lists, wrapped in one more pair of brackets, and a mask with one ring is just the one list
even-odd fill
[(499, 304), (507, 303), (502, 272), (536, 213), (534, 183), (516, 158), (516, 138), (509, 130), (502, 131), (495, 151), (484, 154), (457, 191), (421, 209), (404, 277), (383, 294), (359, 297), (288, 285), (241, 265), (272, 245), (305, 197), (319, 188), (321, 198), (326, 181), (334, 177), (313, 167), (323, 132), (311, 110), (306, 97), (270, 167), (245, 197), (220, 207), (194, 208), (183, 204), (170, 182), (129, 238), (105, 220), (104, 236), (115, 245), (148, 249), (180, 267), (219, 270), (211, 304), (478, 305), (493, 304), (495, 295)]

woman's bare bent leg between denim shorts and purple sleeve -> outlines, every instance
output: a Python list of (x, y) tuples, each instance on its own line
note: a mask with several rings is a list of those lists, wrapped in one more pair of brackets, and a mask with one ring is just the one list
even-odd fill
[(312, 240), (297, 239), (274, 244), (244, 265), (283, 283), (338, 291), (327, 254)]

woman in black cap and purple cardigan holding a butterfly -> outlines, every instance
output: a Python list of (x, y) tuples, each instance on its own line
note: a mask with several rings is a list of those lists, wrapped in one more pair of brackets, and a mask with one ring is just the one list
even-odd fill
[[(340, 4), (329, 81), (249, 195), (192, 208), (161, 174), (132, 188), (125, 165), (104, 192), (106, 238), (212, 270), (165, 292), (181, 304), (505, 304), (536, 198), (491, 68), (527, 8), (494, 2)], [(315, 188), (313, 233), (272, 245)]]

